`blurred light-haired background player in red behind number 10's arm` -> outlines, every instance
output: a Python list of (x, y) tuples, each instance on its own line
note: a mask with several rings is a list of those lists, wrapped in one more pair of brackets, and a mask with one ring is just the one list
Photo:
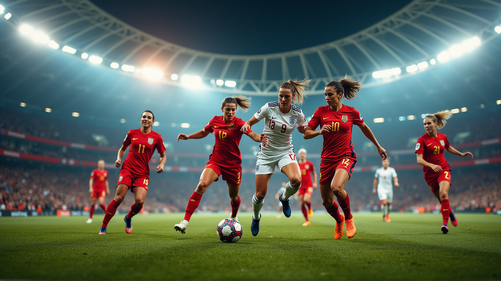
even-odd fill
[[(312, 203), (310, 198), (312, 197), (313, 189), (317, 189), (317, 173), (315, 172), (315, 167), (311, 161), (306, 160), (306, 149), (302, 148), (298, 152), (299, 155), (299, 168), (301, 169), (301, 188), (299, 189), (299, 202), (301, 203), (301, 211), (305, 216), (306, 222), (303, 226), (311, 225), (309, 217), (313, 216)], [(313, 174), (313, 182), (312, 182)], [(306, 210), (308, 207), (308, 211)]]

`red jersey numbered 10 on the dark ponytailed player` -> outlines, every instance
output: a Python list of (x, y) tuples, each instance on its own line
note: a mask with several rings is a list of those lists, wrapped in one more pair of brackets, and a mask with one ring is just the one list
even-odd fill
[(315, 111), (308, 127), (312, 130), (320, 125), (331, 125), (330, 132), (324, 133), (324, 145), (322, 161), (333, 162), (343, 157), (357, 158), (353, 144), (351, 143), (351, 130), (353, 125), (362, 125), (362, 114), (355, 108), (343, 105), (339, 111), (332, 111), (330, 106), (321, 106)]

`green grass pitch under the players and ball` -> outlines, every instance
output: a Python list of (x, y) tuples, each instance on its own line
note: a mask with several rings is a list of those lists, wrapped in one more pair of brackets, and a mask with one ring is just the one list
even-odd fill
[(98, 235), (102, 216), (0, 218), (0, 279), (500, 279), (501, 216), (457, 214), (440, 231), (441, 216), (354, 213), (357, 235), (334, 240), (334, 219), (264, 214), (258, 236), (250, 213), (240, 213), (237, 243), (217, 239), (225, 214), (194, 214), (186, 234), (173, 229), (183, 214), (133, 218), (123, 214)]

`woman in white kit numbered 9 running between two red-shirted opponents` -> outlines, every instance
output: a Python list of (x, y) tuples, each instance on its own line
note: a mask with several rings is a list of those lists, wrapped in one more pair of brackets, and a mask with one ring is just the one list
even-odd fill
[(265, 104), (242, 127), (242, 132), (247, 132), (254, 124), (265, 119), (264, 135), (269, 139), (267, 146), (260, 146), (261, 149), (257, 155), (256, 193), (252, 199), (254, 215), (250, 225), (250, 232), (254, 236), (259, 233), (260, 210), (263, 207), (270, 178), (275, 172), (275, 166), (289, 179), (286, 191), (279, 196), (279, 200), (282, 202), (284, 215), (291, 216), (289, 198), (301, 187), (301, 170), (294, 153), (292, 132), (296, 125), (299, 125), (298, 131), (304, 133), (307, 124), (301, 108), (293, 105), (292, 102), (303, 103), (305, 88), (309, 83), (310, 80), (299, 82), (289, 80), (282, 83), (278, 89), (279, 101)]

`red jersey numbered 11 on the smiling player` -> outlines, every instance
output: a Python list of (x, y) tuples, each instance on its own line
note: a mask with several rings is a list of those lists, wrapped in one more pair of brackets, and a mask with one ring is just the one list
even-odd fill
[(143, 134), (141, 129), (130, 130), (122, 145), (124, 147), (130, 145), (129, 154), (124, 160), (122, 169), (127, 169), (134, 174), (145, 177), (150, 175), (148, 162), (153, 156), (155, 148), (158, 153), (165, 151), (160, 134), (153, 131)]

